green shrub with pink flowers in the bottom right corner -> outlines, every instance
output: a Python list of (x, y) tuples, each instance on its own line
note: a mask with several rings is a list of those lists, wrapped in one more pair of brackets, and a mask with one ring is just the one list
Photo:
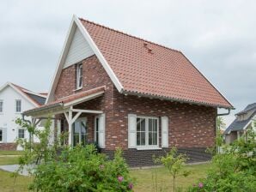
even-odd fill
[(206, 178), (188, 191), (255, 191), (256, 136), (251, 130), (212, 159)]

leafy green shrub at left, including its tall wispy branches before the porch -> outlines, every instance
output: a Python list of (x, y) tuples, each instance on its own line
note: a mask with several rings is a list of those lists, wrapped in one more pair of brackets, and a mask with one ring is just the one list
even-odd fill
[(51, 145), (50, 120), (43, 130), (37, 130), (31, 123), (21, 119), (17, 119), (16, 123), (40, 139), (37, 144), (27, 140), (17, 141), (25, 148), (25, 152), (19, 159), (20, 167), (15, 177), (25, 165), (36, 165), (29, 170), (34, 177), (29, 189), (44, 192), (132, 190), (133, 183), (120, 149), (116, 150), (113, 160), (108, 160), (106, 155), (97, 152), (94, 145), (74, 148), (60, 146), (65, 135), (59, 136)]

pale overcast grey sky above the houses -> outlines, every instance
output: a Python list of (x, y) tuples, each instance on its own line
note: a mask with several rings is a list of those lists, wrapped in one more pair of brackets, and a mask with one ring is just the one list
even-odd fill
[(182, 51), (235, 106), (229, 125), (256, 102), (255, 9), (250, 0), (1, 1), (0, 85), (48, 92), (75, 14)]

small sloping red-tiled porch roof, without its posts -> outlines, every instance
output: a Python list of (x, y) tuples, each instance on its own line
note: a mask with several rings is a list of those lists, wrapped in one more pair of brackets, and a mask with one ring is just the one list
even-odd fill
[(106, 87), (102, 86), (89, 89), (81, 93), (75, 93), (70, 96), (57, 99), (47, 105), (42, 105), (32, 110), (24, 111), (23, 114), (25, 116), (32, 117), (48, 117), (49, 115), (63, 113), (65, 111), (69, 111), (70, 107), (72, 107), (73, 105), (77, 105), (82, 102), (100, 97), (101, 95), (103, 95), (103, 93), (105, 93), (105, 89)]

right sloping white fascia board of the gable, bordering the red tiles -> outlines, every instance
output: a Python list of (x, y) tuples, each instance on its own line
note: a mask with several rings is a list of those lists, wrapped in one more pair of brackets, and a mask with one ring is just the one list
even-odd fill
[(77, 18), (76, 15), (73, 16), (73, 19), (76, 22), (77, 27), (80, 29), (82, 36), (87, 40), (88, 45), (90, 45), (96, 57), (98, 57), (98, 59), (100, 60), (103, 68), (107, 71), (107, 75), (109, 75), (110, 79), (113, 81), (113, 84), (119, 90), (119, 93), (122, 93), (124, 87), (120, 83), (118, 77), (114, 74), (113, 69), (111, 69), (110, 65), (107, 63), (107, 60), (102, 55), (97, 45), (94, 43), (94, 40), (91, 38), (86, 28), (83, 27), (82, 22)]

